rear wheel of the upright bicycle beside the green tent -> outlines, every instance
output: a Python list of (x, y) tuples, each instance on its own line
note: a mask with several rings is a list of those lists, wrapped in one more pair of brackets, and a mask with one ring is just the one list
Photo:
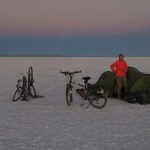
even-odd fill
[(93, 107), (100, 109), (106, 105), (107, 97), (102, 93), (98, 93), (94, 95), (89, 95), (88, 101)]

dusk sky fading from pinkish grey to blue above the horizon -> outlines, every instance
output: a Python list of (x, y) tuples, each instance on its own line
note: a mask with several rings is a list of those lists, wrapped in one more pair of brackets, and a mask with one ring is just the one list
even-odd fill
[(0, 0), (0, 55), (150, 56), (150, 0)]

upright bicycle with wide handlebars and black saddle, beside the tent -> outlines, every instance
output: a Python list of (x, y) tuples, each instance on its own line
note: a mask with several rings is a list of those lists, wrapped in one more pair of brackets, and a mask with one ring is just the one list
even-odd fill
[[(74, 75), (77, 73), (81, 73), (82, 71), (74, 71), (69, 72), (65, 71), (60, 73), (64, 74), (67, 78), (66, 83), (66, 102), (67, 105), (71, 105), (73, 102), (73, 88), (75, 88), (75, 85), (82, 87), (81, 89), (76, 88), (77, 94), (81, 96), (83, 100), (88, 100), (89, 105), (92, 105), (93, 107), (100, 109), (103, 108), (107, 103), (107, 97), (105, 96), (104, 92), (102, 92), (102, 89), (94, 84), (89, 84), (88, 81), (91, 79), (91, 77), (83, 77), (84, 85), (82, 84), (76, 84), (73, 79)], [(88, 105), (88, 107), (89, 107)]]

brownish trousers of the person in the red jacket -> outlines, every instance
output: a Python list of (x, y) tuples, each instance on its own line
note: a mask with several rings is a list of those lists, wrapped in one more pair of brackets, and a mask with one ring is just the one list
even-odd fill
[(119, 99), (121, 99), (122, 87), (124, 88), (125, 93), (127, 90), (127, 78), (126, 78), (126, 76), (123, 76), (123, 77), (116, 76), (116, 82), (117, 82), (117, 96)]

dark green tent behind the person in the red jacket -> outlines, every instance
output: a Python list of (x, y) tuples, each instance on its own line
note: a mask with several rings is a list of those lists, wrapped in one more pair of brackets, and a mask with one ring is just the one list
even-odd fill
[[(136, 93), (142, 90), (150, 92), (150, 74), (142, 73), (134, 67), (128, 67), (127, 81), (128, 91), (131, 93)], [(106, 71), (102, 73), (96, 84), (100, 88), (104, 89), (105, 92), (109, 91), (114, 95), (116, 94), (116, 80), (114, 72)]]

